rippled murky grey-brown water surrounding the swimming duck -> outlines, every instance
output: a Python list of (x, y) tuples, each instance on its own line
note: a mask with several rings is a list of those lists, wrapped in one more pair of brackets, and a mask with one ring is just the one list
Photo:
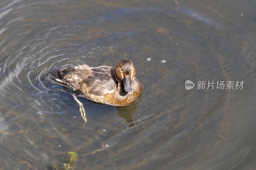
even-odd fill
[[(76, 169), (256, 169), (255, 7), (2, 1), (0, 169), (51, 169), (69, 151)], [(143, 85), (140, 100), (113, 107), (79, 98), (83, 126), (72, 91), (50, 69), (123, 58)], [(243, 89), (196, 89), (228, 80)]]

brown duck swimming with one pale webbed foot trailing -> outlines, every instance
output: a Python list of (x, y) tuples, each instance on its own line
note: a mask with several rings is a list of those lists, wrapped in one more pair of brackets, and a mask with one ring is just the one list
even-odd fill
[[(137, 100), (142, 93), (142, 85), (135, 77), (135, 68), (130, 59), (122, 59), (116, 67), (90, 67), (87, 64), (73, 67), (56, 67), (50, 71), (52, 78), (71, 87), (79, 97), (85, 97), (93, 102), (111, 105), (127, 106)], [(85, 122), (83, 104), (79, 110)]]

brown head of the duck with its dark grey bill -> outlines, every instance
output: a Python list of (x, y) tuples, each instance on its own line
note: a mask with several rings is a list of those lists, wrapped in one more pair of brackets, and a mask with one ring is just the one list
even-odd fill
[(126, 92), (131, 92), (131, 80), (134, 80), (135, 77), (135, 68), (133, 67), (132, 61), (129, 59), (119, 61), (115, 68), (115, 77), (119, 84), (124, 85)]

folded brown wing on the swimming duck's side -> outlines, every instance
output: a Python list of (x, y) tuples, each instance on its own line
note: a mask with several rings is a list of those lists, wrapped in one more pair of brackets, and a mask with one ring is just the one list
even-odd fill
[(91, 71), (91, 76), (84, 79), (82, 82), (89, 87), (89, 92), (87, 93), (102, 96), (112, 90), (116, 90), (117, 81), (115, 77), (115, 69), (113, 67), (94, 67), (91, 68)]

